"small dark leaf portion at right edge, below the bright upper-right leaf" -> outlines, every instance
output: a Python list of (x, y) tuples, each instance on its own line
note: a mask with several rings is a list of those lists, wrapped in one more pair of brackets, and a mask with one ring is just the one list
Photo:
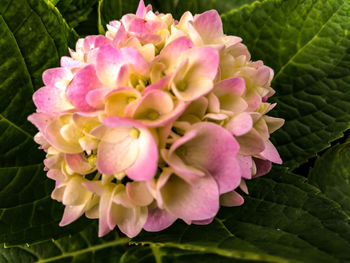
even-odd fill
[(317, 159), (309, 182), (339, 203), (350, 217), (350, 144), (336, 145)]

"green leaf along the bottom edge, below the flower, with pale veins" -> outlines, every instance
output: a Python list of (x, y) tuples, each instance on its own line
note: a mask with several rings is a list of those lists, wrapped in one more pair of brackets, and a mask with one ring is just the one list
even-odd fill
[[(159, 247), (158, 245), (129, 247), (128, 242), (130, 239), (119, 238), (115, 231), (103, 238), (98, 238), (96, 232), (96, 224), (93, 224), (80, 233), (69, 237), (43, 241), (34, 245), (0, 247), (0, 262), (185, 263), (200, 262), (203, 258), (206, 262), (218, 262), (218, 259), (222, 263), (249, 262), (245, 260), (238, 261), (232, 257), (218, 257), (215, 253), (196, 251), (192, 247), (187, 248), (186, 246), (183, 249)], [(256, 258), (260, 259), (263, 257), (258, 255)], [(270, 260), (275, 259), (277, 262), (284, 262), (283, 259), (267, 258)]]

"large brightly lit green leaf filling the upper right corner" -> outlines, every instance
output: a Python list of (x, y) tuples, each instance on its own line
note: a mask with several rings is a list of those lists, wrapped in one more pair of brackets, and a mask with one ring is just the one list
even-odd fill
[(273, 136), (295, 168), (349, 128), (350, 2), (270, 0), (222, 15), (254, 60), (275, 71), (273, 114), (286, 120)]

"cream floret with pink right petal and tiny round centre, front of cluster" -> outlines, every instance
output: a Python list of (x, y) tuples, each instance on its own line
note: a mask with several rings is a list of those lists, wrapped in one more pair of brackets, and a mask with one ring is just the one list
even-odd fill
[[(101, 139), (97, 154), (99, 171), (114, 174), (127, 169), (133, 180), (152, 178), (157, 170), (158, 148), (147, 128), (137, 121), (118, 117), (106, 118), (104, 125), (91, 132)], [(137, 139), (130, 137), (130, 130), (135, 128), (140, 133)]]

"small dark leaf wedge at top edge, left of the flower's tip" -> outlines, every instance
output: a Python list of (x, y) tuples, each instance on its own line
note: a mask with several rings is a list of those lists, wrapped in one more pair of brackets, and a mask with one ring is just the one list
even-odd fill
[[(88, 20), (91, 12), (94, 11), (94, 6), (97, 5), (98, 0), (50, 0), (62, 16), (66, 19), (68, 24), (75, 28), (80, 23)], [(96, 23), (96, 21), (95, 21)]]

